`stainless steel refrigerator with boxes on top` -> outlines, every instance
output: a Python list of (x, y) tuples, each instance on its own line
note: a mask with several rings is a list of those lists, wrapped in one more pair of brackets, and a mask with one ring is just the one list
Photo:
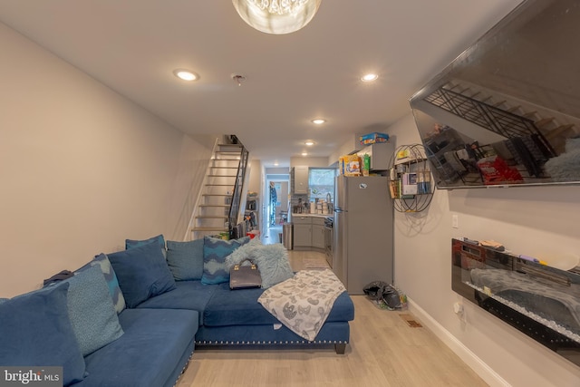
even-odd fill
[(392, 284), (393, 209), (388, 178), (338, 176), (334, 192), (333, 271), (350, 295), (372, 281)]

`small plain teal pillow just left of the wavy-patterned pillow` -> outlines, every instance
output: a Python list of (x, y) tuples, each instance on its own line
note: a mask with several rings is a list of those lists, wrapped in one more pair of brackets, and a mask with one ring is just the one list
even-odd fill
[(203, 238), (189, 242), (167, 241), (167, 265), (178, 281), (201, 279), (203, 275)]

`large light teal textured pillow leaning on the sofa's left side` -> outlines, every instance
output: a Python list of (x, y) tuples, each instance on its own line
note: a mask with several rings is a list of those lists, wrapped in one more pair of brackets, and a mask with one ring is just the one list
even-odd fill
[(69, 317), (83, 356), (121, 337), (123, 330), (100, 266), (86, 266), (63, 282), (70, 284)]

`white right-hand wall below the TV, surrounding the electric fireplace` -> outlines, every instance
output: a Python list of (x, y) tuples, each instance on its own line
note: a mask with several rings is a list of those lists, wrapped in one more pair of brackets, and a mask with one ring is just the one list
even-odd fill
[[(397, 146), (418, 143), (411, 114), (389, 129)], [(451, 227), (458, 215), (459, 228)], [(451, 237), (494, 239), (518, 254), (580, 254), (580, 187), (436, 190), (430, 208), (395, 213), (395, 283), (411, 311), (490, 385), (578, 386), (580, 367), (451, 291)]]

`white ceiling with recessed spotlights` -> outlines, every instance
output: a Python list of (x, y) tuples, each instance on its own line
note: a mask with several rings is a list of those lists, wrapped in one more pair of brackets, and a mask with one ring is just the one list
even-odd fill
[[(323, 0), (285, 35), (249, 27), (229, 0), (0, 0), (0, 21), (181, 131), (236, 134), (272, 167), (388, 132), (414, 92), (518, 3)], [(178, 68), (200, 79), (180, 81)], [(361, 82), (368, 72), (379, 79)]]

